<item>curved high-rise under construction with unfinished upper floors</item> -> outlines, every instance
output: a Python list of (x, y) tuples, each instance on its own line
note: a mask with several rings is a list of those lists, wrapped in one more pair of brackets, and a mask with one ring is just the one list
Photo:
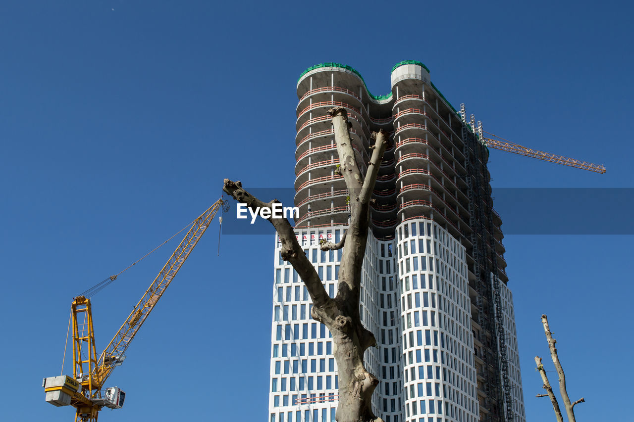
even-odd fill
[[(322, 63), (297, 82), (296, 234), (333, 297), (349, 219), (327, 110), (344, 107), (361, 171), (372, 131), (391, 132), (363, 265), (361, 316), (377, 338), (366, 368), (380, 380), (386, 422), (525, 422), (513, 299), (481, 132), (432, 84), (419, 61), (392, 68), (373, 96), (354, 68)], [(311, 319), (297, 273), (276, 240), (270, 422), (335, 420), (332, 338)]]

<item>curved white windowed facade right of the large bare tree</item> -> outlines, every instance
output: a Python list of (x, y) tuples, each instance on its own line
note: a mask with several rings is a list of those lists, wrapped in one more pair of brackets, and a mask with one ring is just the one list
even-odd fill
[(465, 248), (428, 219), (397, 229), (406, 421), (479, 419)]

